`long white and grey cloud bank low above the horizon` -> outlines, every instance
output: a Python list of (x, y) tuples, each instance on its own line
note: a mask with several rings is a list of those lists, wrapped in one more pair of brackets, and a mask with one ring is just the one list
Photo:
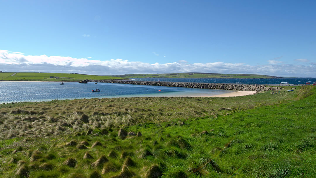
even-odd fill
[[(88, 57), (90, 58), (90, 57)], [(149, 64), (123, 59), (91, 60), (63, 56), (25, 56), (22, 52), (0, 50), (0, 69), (6, 72), (56, 72), (92, 75), (150, 74), (207, 72), (226, 74), (262, 74), (282, 77), (316, 77), (316, 63), (307, 59), (295, 59), (295, 64), (267, 60), (269, 64), (249, 65), (243, 63), (187, 63), (185, 60), (165, 64)]]

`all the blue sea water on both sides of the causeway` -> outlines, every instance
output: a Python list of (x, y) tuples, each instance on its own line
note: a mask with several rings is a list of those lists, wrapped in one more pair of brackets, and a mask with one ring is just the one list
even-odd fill
[[(282, 79), (214, 79), (214, 78), (134, 78), (139, 81), (200, 82), (200, 83), (257, 83), (289, 84), (313, 83), (316, 78)], [(100, 92), (92, 92), (92, 89)], [(149, 85), (129, 85), (117, 83), (77, 83), (64, 82), (0, 82), (0, 103), (23, 101), (52, 101), (82, 98), (118, 98), (118, 97), (185, 97), (211, 96), (234, 92), (231, 90), (191, 89), (182, 87), (163, 87)]]

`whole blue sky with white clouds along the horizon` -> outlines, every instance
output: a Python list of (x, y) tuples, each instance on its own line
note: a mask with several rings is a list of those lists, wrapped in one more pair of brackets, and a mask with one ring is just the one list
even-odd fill
[(0, 0), (0, 71), (316, 77), (316, 1)]

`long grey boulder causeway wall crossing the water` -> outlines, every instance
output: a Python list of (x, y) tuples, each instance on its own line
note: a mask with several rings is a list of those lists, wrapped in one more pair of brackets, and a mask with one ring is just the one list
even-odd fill
[(191, 83), (191, 82), (157, 82), (157, 81), (133, 81), (133, 80), (83, 80), (79, 83), (101, 82), (121, 83), (133, 85), (155, 85), (165, 87), (185, 87), (199, 89), (226, 89), (226, 90), (248, 90), (248, 91), (269, 91), (279, 90), (282, 87), (270, 87), (256, 84), (224, 84), (224, 83)]

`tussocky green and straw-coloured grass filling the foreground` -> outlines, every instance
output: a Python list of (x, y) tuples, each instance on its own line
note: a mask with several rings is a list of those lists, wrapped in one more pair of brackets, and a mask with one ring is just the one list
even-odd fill
[[(315, 177), (315, 107), (313, 86), (230, 98), (5, 104), (0, 177)], [(35, 113), (10, 114), (17, 109)], [(120, 128), (142, 136), (121, 139)]]

